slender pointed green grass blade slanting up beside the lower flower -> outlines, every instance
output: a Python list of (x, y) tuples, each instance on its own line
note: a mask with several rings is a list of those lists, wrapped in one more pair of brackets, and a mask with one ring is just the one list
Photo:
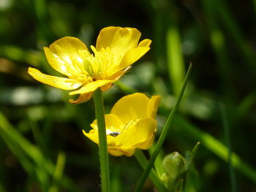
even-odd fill
[(148, 161), (148, 164), (146, 166), (146, 169), (144, 170), (143, 174), (141, 175), (140, 177), (140, 180), (139, 180), (139, 183), (137, 185), (137, 187), (135, 188), (135, 192), (139, 192), (139, 191), (142, 191), (143, 189), (143, 185), (146, 181), (146, 178), (148, 177), (148, 174), (150, 173), (151, 171), (151, 168), (154, 164), (154, 161), (156, 160), (157, 158), (157, 155), (159, 154), (160, 150), (161, 150), (161, 147), (162, 147), (162, 144), (164, 143), (165, 141), (165, 137), (167, 135), (167, 132), (170, 128), (170, 124), (173, 123), (173, 119), (174, 119), (174, 116), (176, 114), (176, 111), (178, 110), (178, 105), (180, 104), (181, 102), (181, 98), (183, 96), (183, 93), (185, 91), (185, 88), (186, 88), (186, 85), (187, 85), (187, 81), (189, 79), (189, 74), (191, 72), (191, 69), (192, 69), (192, 64), (189, 65), (189, 69), (187, 71), (187, 74), (186, 74), (186, 77), (185, 77), (185, 80), (183, 82), (183, 85), (182, 85), (182, 88), (181, 88), (181, 92), (179, 93), (178, 95), (178, 99), (176, 101), (176, 103), (174, 104), (173, 106), (173, 110), (170, 112), (170, 115), (169, 117), (167, 118), (167, 121), (165, 123), (165, 126), (164, 128), (162, 129), (162, 134), (160, 135), (159, 137), (159, 140), (157, 142), (157, 145), (156, 147), (154, 147), (154, 152), (152, 153), (151, 155), (151, 158), (149, 159)]

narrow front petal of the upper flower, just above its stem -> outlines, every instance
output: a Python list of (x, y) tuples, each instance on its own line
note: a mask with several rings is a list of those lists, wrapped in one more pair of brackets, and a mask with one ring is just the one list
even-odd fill
[(70, 92), (69, 95), (93, 92), (97, 88), (107, 85), (110, 82), (113, 82), (113, 80), (97, 80), (97, 81), (89, 82), (86, 85), (83, 85), (83, 87), (78, 89), (77, 91)]

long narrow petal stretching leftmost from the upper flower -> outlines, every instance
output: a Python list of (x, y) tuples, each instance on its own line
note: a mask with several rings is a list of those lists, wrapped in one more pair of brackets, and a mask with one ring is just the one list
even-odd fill
[(76, 89), (76, 88), (79, 88), (80, 85), (82, 85), (82, 83), (78, 80), (43, 74), (38, 69), (34, 69), (31, 67), (29, 67), (29, 74), (39, 82), (43, 82), (45, 84), (51, 85), (56, 88), (61, 88), (64, 90)]

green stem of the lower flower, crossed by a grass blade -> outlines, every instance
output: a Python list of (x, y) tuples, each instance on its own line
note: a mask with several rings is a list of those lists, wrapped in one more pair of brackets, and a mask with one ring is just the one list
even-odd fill
[[(135, 158), (137, 159), (140, 166), (145, 170), (146, 165), (148, 164), (148, 160), (141, 150), (136, 150)], [(162, 183), (162, 180), (159, 179), (157, 172), (154, 169), (151, 170), (149, 178), (154, 183), (154, 186), (159, 190), (159, 192), (167, 192), (167, 188)]]

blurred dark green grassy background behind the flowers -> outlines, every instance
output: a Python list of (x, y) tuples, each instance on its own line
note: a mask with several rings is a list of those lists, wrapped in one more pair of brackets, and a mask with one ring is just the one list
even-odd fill
[[(98, 148), (82, 134), (93, 101), (69, 104), (68, 91), (27, 69), (56, 74), (42, 47), (65, 36), (89, 47), (106, 26), (153, 41), (105, 93), (106, 112), (127, 93), (159, 94), (158, 138), (192, 62), (162, 153), (201, 142), (185, 191), (256, 191), (255, 21), (255, 0), (0, 0), (0, 192), (100, 190)], [(113, 192), (132, 191), (142, 173), (134, 157), (110, 156), (110, 171)], [(149, 180), (145, 191), (154, 191)]]

